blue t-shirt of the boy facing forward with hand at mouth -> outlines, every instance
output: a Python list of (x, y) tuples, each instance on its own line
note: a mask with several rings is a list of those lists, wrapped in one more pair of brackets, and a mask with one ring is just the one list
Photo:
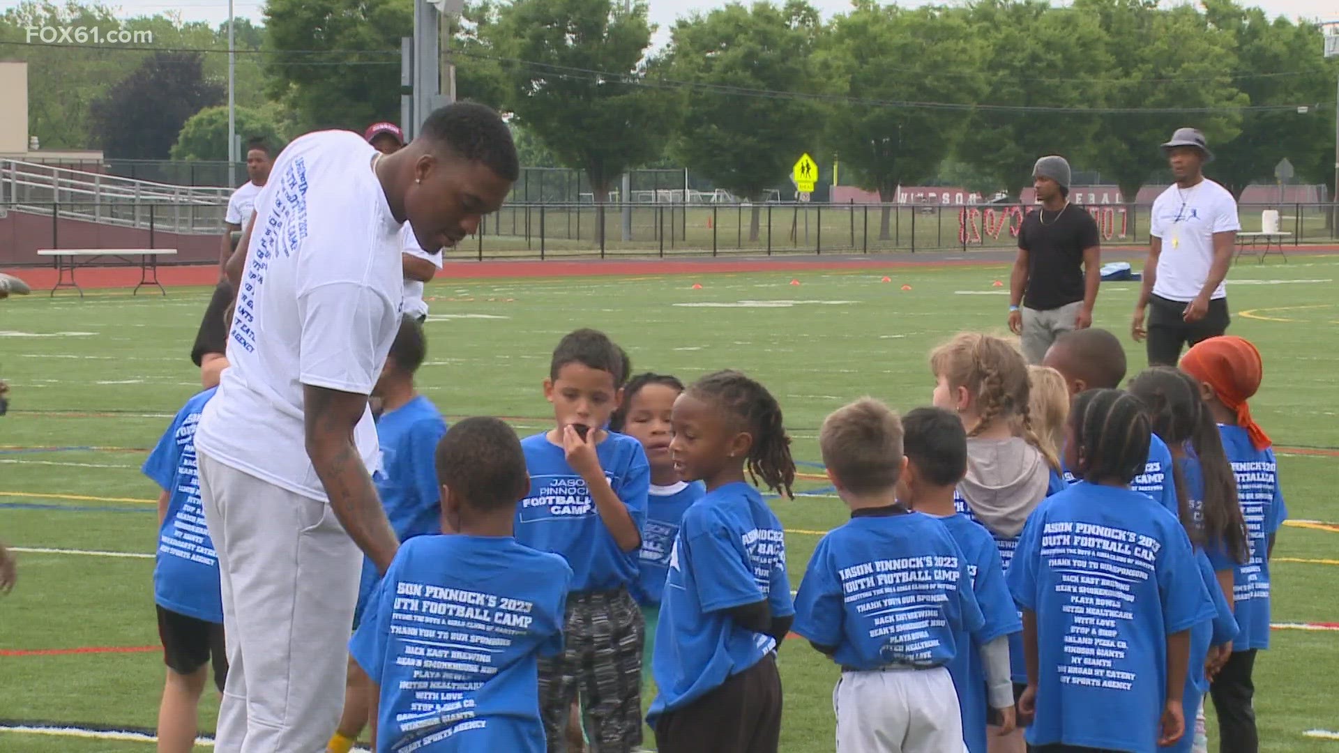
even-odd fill
[[(605, 528), (581, 474), (568, 465), (561, 446), (544, 434), (521, 439), (530, 493), (516, 510), (516, 540), (541, 552), (562, 555), (572, 565), (573, 591), (613, 591), (635, 587), (640, 552), (624, 552)], [(651, 466), (641, 442), (609, 431), (596, 445), (609, 486), (628, 505), (641, 531), (647, 521)]]

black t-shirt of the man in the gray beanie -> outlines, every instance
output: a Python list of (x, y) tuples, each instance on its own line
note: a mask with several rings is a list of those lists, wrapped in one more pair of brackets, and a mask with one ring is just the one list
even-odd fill
[[(1046, 224), (1042, 224), (1042, 213)], [(1018, 247), (1027, 252), (1023, 305), (1047, 311), (1083, 300), (1083, 249), (1099, 245), (1097, 220), (1082, 206), (1036, 208), (1023, 217)]]

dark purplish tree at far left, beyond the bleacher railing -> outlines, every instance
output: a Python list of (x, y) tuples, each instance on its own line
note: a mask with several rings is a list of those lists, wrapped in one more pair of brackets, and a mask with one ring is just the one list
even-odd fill
[(186, 119), (222, 98), (224, 88), (205, 80), (198, 52), (154, 52), (94, 100), (92, 134), (107, 157), (165, 159)]

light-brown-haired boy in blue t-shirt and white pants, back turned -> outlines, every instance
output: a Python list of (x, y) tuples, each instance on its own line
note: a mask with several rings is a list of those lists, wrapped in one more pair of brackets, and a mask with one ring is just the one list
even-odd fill
[[(960, 422), (959, 433), (965, 468)], [(795, 596), (795, 632), (841, 667), (833, 691), (837, 753), (961, 750), (949, 665), (971, 651), (971, 635), (984, 626), (972, 560), (940, 519), (897, 501), (898, 481), (913, 472), (902, 456), (901, 422), (885, 405), (866, 398), (838, 409), (823, 421), (818, 445), (828, 477), (852, 512), (809, 559)], [(948, 489), (943, 501), (952, 513)], [(986, 529), (967, 524), (981, 532), (986, 560), (998, 563), (988, 557), (995, 544)], [(1007, 598), (1003, 615), (1015, 619)], [(1000, 638), (995, 647), (1004, 655), (996, 669), (1012, 705), (1003, 636), (991, 639)], [(984, 728), (983, 718), (983, 734)]]

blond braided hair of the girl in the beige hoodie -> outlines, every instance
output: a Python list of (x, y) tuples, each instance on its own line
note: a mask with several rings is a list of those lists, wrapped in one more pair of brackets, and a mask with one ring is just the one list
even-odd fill
[(1047, 446), (1032, 427), (1031, 394), (1027, 360), (1003, 338), (981, 332), (960, 332), (929, 355), (935, 376), (943, 376), (957, 391), (967, 387), (976, 405), (977, 423), (967, 433), (977, 437), (995, 421), (1014, 425), (1015, 433), (1036, 448), (1046, 465), (1059, 473), (1060, 460), (1054, 446)]

